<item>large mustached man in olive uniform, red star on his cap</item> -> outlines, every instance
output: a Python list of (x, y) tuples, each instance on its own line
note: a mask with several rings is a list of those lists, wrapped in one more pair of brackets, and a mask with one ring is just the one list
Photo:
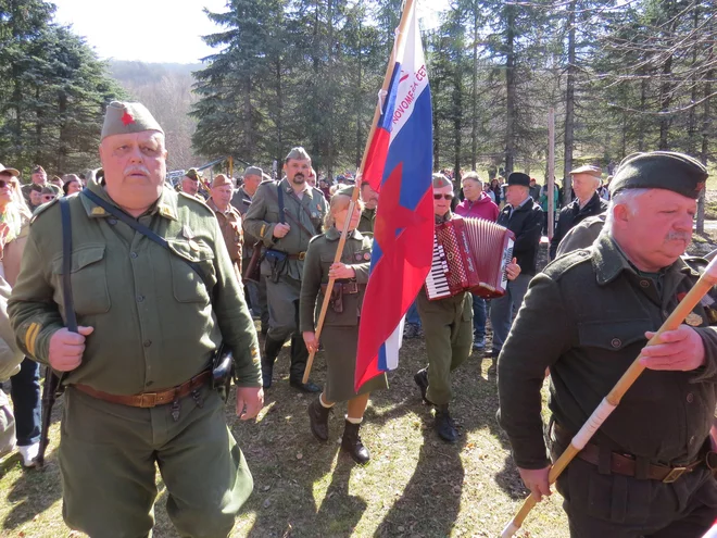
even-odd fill
[(66, 199), (78, 333), (65, 327), (58, 201), (35, 215), (8, 308), (22, 350), (64, 374), (63, 516), (92, 537), (149, 536), (158, 466), (181, 536), (228, 536), (252, 490), (210, 378), (224, 341), (234, 352), (237, 413), (246, 406), (242, 418), (255, 416), (256, 334), (214, 214), (164, 188), (166, 154), (144, 107), (110, 103), (100, 143), (105, 187), (90, 182), (91, 193)]

